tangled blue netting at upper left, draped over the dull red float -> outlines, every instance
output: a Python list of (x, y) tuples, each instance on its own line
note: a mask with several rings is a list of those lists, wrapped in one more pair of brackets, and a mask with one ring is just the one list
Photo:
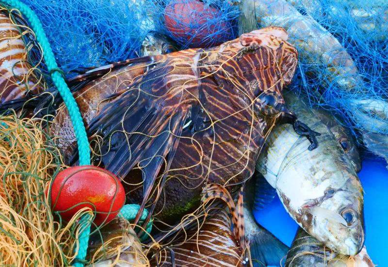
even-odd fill
[[(176, 1), (178, 6), (170, 9), (172, 15), (177, 8), (178, 17), (193, 17), (196, 14), (196, 19), (175, 25), (187, 30), (183, 37), (171, 34), (165, 27), (163, 13), (169, 4), (168, 0), (22, 1), (41, 20), (57, 62), (65, 72), (137, 57), (142, 41), (150, 31), (178, 37), (176, 41), (182, 49), (189, 46), (211, 46), (236, 36), (231, 21), (238, 16), (238, 9), (222, 1)], [(201, 6), (203, 8), (200, 10)], [(191, 10), (185, 10), (186, 7)], [(203, 19), (204, 14), (208, 15), (208, 19)], [(199, 40), (195, 37), (206, 30), (210, 34), (202, 34)], [(206, 40), (202, 40), (202, 37), (206, 37)], [(188, 45), (193, 38), (196, 40)]]

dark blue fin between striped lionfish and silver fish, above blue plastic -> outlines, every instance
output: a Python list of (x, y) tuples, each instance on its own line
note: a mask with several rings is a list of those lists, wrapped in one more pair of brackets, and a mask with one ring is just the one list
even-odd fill
[(276, 189), (272, 187), (259, 172), (256, 172), (255, 176), (256, 190), (253, 210), (259, 211), (271, 204), (272, 200), (275, 198)]

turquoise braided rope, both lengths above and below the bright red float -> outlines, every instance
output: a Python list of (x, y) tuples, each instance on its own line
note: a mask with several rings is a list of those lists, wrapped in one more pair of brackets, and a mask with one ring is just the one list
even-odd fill
[[(73, 123), (74, 132), (77, 138), (80, 165), (90, 165), (89, 142), (86, 135), (85, 125), (83, 124), (83, 121), (82, 121), (80, 110), (78, 108), (76, 100), (74, 99), (73, 95), (70, 92), (69, 87), (65, 83), (64, 77), (62, 77), (62, 74), (58, 70), (56, 70), (58, 69), (58, 65), (55, 61), (54, 54), (49, 45), (49, 40), (47, 39), (47, 36), (43, 31), (43, 27), (39, 21), (39, 18), (36, 16), (36, 14), (32, 11), (31, 8), (29, 8), (27, 5), (25, 5), (24, 3), (21, 3), (18, 0), (2, 0), (2, 1), (5, 4), (8, 4), (18, 9), (24, 15), (24, 17), (26, 17), (30, 22), (32, 31), (35, 33), (36, 40), (39, 42), (39, 44), (42, 47), (43, 56), (45, 58), (47, 68), (50, 73), (51, 73), (51, 70), (53, 70), (51, 73), (52, 81), (57, 86), (58, 92), (62, 96), (65, 102), (65, 105), (67, 107), (67, 110), (69, 111), (70, 119)], [(79, 239), (80, 249), (76, 256), (76, 259), (80, 259), (81, 261), (80, 262), (76, 261), (74, 263), (75, 267), (83, 267), (82, 261), (86, 257), (86, 250), (88, 248), (91, 218), (89, 218), (87, 215), (82, 216), (81, 223), (83, 224), (83, 230), (81, 231), (80, 239)]]

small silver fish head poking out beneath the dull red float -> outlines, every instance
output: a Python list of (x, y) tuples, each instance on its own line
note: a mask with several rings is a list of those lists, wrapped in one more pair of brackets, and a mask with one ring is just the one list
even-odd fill
[(140, 48), (140, 56), (165, 55), (179, 51), (178, 44), (165, 34), (151, 31)]

